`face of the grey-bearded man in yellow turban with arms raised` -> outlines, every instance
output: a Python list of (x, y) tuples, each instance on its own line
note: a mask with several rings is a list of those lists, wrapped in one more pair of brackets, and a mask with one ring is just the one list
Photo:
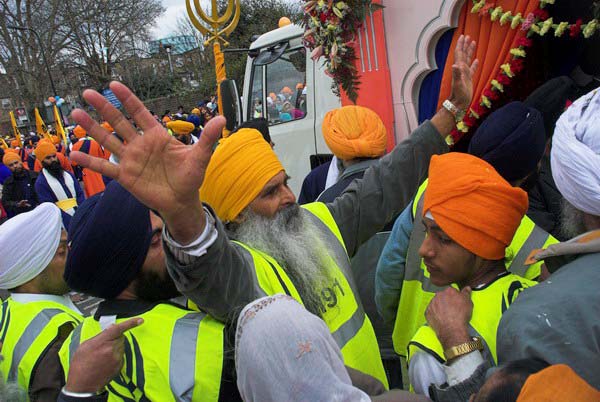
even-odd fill
[(296, 196), (288, 187), (289, 176), (281, 171), (263, 187), (258, 196), (248, 205), (261, 216), (272, 218), (285, 207), (296, 203)]

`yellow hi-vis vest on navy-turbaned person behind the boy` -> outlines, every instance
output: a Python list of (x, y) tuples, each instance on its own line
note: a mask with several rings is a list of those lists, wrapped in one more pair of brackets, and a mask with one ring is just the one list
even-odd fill
[[(435, 286), (429, 280), (429, 273), (419, 255), (419, 248), (425, 240), (425, 227), (423, 216), (424, 194), (428, 181), (425, 180), (419, 187), (413, 201), (413, 230), (408, 245), (404, 282), (398, 303), (398, 312), (394, 323), (392, 340), (394, 351), (401, 356), (406, 355), (408, 342), (418, 328), (425, 323), (425, 309), (435, 293), (443, 287)], [(544, 245), (557, 243), (554, 237), (536, 226), (531, 219), (524, 216), (521, 220), (511, 244), (506, 249), (506, 267), (508, 270), (526, 279), (539, 277), (543, 262), (538, 262), (530, 267), (524, 265), (529, 253)], [(530, 248), (531, 247), (531, 248)], [(518, 252), (516, 252), (518, 250)]]

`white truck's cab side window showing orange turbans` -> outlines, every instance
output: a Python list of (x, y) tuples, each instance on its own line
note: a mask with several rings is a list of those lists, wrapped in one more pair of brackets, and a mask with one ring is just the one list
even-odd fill
[(306, 50), (289, 50), (265, 69), (269, 125), (306, 116)]

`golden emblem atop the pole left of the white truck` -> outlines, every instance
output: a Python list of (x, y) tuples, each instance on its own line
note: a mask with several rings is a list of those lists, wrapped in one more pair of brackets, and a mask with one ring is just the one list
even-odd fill
[[(193, 7), (192, 7), (192, 2)], [(206, 15), (200, 6), (200, 0), (186, 0), (185, 7), (194, 27), (200, 31), (207, 39), (204, 46), (211, 42), (221, 41), (223, 46), (229, 46), (225, 37), (229, 36), (240, 21), (241, 0), (229, 0), (227, 9), (223, 15), (219, 15), (217, 0), (212, 0), (211, 16)], [(194, 12), (195, 9), (195, 12)], [(201, 22), (203, 21), (204, 24)], [(208, 25), (208, 27), (206, 25)]]

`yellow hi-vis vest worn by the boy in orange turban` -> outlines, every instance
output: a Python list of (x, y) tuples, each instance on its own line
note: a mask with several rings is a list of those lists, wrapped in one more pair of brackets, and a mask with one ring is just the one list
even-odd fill
[[(491, 365), (496, 365), (496, 335), (502, 314), (515, 301), (519, 294), (536, 282), (520, 276), (505, 273), (494, 282), (473, 289), (473, 315), (469, 323), (469, 335), (481, 338), (484, 344), (483, 357)], [(408, 360), (418, 351), (425, 351), (434, 356), (440, 363), (445, 363), (444, 349), (431, 327), (423, 325), (408, 344)]]

